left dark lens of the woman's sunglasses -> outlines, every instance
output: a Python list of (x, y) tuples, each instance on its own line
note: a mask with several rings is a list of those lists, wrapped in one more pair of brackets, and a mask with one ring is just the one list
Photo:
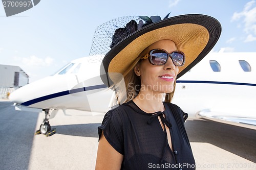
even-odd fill
[(163, 65), (166, 63), (168, 54), (162, 50), (154, 50), (151, 53), (151, 62), (155, 65)]

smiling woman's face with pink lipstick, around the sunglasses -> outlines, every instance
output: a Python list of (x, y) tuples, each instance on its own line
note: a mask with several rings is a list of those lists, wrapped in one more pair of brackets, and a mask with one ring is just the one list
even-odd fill
[[(147, 52), (162, 48), (168, 53), (176, 51), (175, 43), (171, 40), (160, 40), (151, 44)], [(169, 57), (165, 65), (152, 65), (148, 59), (142, 60), (134, 69), (135, 74), (140, 76), (141, 90), (150, 90), (159, 93), (169, 93), (174, 90), (179, 68), (174, 65)]]

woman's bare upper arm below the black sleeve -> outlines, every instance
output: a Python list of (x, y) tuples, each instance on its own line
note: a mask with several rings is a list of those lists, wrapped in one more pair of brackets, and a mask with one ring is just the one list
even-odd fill
[(123, 155), (117, 152), (102, 134), (100, 136), (96, 159), (96, 170), (120, 170)]

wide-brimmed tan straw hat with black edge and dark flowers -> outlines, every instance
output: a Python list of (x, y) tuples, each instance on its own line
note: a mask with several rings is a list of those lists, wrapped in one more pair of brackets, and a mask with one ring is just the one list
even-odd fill
[[(221, 34), (220, 22), (207, 15), (187, 14), (163, 20), (155, 17), (160, 18), (151, 17), (151, 22), (143, 16), (136, 23), (126, 22), (126, 27), (116, 29), (109, 44), (111, 50), (100, 67), (101, 79), (106, 86), (117, 83), (120, 79), (116, 75), (122, 75), (147, 46), (163, 39), (174, 41), (177, 50), (185, 54), (186, 61), (179, 67), (178, 79), (210, 52)], [(144, 20), (146, 22), (142, 23)], [(120, 34), (120, 31), (125, 33)]]

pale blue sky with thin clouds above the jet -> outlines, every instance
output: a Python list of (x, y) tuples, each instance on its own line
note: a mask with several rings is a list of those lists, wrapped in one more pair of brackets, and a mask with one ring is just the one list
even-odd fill
[(218, 19), (222, 34), (212, 52), (256, 52), (254, 0), (41, 0), (6, 17), (0, 5), (0, 64), (16, 65), (29, 82), (53, 75), (71, 60), (89, 56), (95, 29), (127, 15), (205, 14)]

